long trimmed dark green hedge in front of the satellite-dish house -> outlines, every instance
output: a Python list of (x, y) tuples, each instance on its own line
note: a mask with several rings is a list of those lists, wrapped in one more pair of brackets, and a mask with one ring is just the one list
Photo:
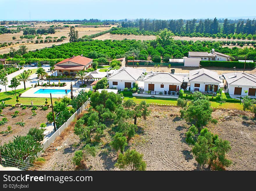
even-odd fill
[[(201, 60), (200, 65), (202, 67), (225, 67), (225, 68), (243, 68), (244, 63), (238, 61), (210, 61)], [(255, 68), (255, 63), (246, 63), (245, 68)]]

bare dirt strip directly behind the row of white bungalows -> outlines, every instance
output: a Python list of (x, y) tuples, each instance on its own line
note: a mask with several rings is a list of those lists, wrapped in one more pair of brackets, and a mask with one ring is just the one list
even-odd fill
[[(132, 66), (129, 66), (132, 67)], [(172, 66), (171, 68), (168, 68), (167, 66), (160, 66), (160, 67), (154, 67), (154, 66), (137, 66), (138, 68), (145, 68), (147, 72), (171, 72), (171, 69), (175, 69), (175, 73), (189, 73), (190, 70), (198, 69), (198, 67), (184, 67), (184, 66)], [(202, 68), (202, 67), (200, 67)], [(223, 73), (232, 73), (234, 72), (234, 69), (232, 68), (218, 68), (218, 67), (204, 67), (209, 70), (213, 70), (217, 72), (218, 74)], [(243, 72), (243, 69), (236, 68), (235, 72)], [(256, 74), (256, 68), (254, 69), (245, 69), (246, 73), (249, 74)]]

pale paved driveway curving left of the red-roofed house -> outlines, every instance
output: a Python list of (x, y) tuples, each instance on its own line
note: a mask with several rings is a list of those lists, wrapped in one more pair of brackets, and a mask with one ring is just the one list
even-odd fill
[[(49, 65), (42, 65), (42, 67), (45, 69), (45, 71), (46, 71), (47, 73), (49, 73), (49, 71), (48, 71), (48, 69), (50, 68)], [(10, 81), (11, 81), (11, 79), (12, 79), (13, 77), (18, 76), (19, 74), (21, 74), (22, 72), (24, 72), (24, 70), (28, 70), (28, 69), (37, 69), (37, 68), (38, 68), (38, 67), (35, 67), (35, 66), (34, 66), (34, 67), (27, 66), (27, 67), (24, 67), (24, 68), (21, 69), (21, 70), (18, 70), (17, 72), (13, 72), (12, 74), (9, 74), (9, 75), (7, 76), (7, 78), (8, 78), (8, 85), (11, 84)], [(27, 87), (27, 88), (31, 87), (31, 84), (34, 85), (34, 84), (37, 83), (37, 81), (38, 81), (38, 79), (36, 79), (36, 78), (37, 78), (37, 74), (32, 74), (31, 76), (29, 76), (29, 78), (31, 79), (31, 81), (27, 81), (27, 82), (26, 82), (26, 87)], [(39, 80), (39, 83), (40, 83), (41, 81), (43, 81), (43, 80)], [(14, 88), (9, 88), (8, 85), (6, 85), (6, 90), (7, 90), (7, 91), (14, 90)], [(5, 86), (4, 86), (4, 85), (0, 85), (0, 88), (2, 89), (1, 92), (4, 92), (4, 91), (5, 91)], [(22, 89), (22, 88), (24, 88), (23, 82), (20, 83), (20, 85), (16, 88), (16, 90), (17, 90), (17, 89)]]

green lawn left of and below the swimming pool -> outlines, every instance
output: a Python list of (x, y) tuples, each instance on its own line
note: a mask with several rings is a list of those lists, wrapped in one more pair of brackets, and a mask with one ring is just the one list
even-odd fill
[[(5, 91), (0, 92), (0, 102), (1, 101), (5, 101), (5, 104), (12, 104), (14, 105), (16, 102), (16, 96), (19, 94), (22, 94), (23, 92), (29, 90), (30, 88), (26, 88), (26, 90), (24, 89), (18, 89), (16, 90), (16, 95), (15, 95), (15, 91), (8, 91), (7, 94), (5, 94)], [(41, 105), (42, 103), (44, 103), (45, 98), (44, 97), (19, 97), (19, 103), (22, 103), (24, 105), (30, 105), (31, 104), (31, 100), (33, 101), (34, 105)], [(54, 103), (54, 101), (57, 101), (57, 98), (52, 98), (52, 102)], [(51, 104), (51, 99), (48, 98), (48, 104)]]

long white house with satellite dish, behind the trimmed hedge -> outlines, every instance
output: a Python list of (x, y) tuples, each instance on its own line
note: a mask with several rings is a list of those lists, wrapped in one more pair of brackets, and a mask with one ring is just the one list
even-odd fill
[(188, 58), (200, 58), (201, 60), (229, 61), (230, 56), (214, 51), (208, 52), (192, 52), (189, 51)]

